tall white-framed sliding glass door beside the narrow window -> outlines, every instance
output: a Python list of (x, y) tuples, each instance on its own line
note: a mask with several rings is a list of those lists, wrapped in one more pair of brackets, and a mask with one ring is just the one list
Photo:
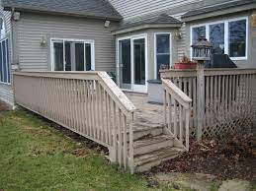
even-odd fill
[(119, 79), (122, 89), (147, 92), (146, 35), (119, 39)]

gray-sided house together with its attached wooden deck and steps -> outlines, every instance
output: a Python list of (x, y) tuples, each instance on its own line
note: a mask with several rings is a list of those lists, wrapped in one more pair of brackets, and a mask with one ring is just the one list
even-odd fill
[[(0, 99), (107, 147), (131, 173), (188, 151), (190, 137), (255, 120), (255, 0), (1, 5)], [(202, 36), (239, 68), (165, 70), (160, 81), (159, 69), (192, 57)]]

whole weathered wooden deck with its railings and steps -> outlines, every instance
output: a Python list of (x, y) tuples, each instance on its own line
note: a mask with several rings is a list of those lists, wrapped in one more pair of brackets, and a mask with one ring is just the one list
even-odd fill
[(163, 105), (124, 94), (106, 72), (16, 72), (13, 82), (17, 104), (107, 147), (109, 159), (133, 173), (188, 151), (193, 132), (201, 140), (238, 128), (242, 116), (254, 119), (255, 69), (208, 69), (205, 76), (202, 92), (196, 71), (165, 71)]

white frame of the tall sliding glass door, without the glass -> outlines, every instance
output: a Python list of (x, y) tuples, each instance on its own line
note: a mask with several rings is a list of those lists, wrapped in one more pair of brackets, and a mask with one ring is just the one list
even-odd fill
[[(120, 37), (117, 39), (117, 48), (118, 48), (118, 63), (117, 63), (117, 68), (118, 68), (118, 79), (120, 79), (120, 41), (129, 39), (130, 40), (130, 80), (131, 80), (131, 89), (123, 89), (124, 91), (128, 92), (137, 92), (137, 93), (147, 93), (147, 71), (148, 71), (148, 60), (147, 60), (147, 34), (146, 33), (141, 33), (137, 35), (129, 35), (125, 37)], [(144, 39), (145, 40), (145, 85), (135, 85), (134, 84), (134, 47), (133, 47), (133, 41), (134, 39)]]

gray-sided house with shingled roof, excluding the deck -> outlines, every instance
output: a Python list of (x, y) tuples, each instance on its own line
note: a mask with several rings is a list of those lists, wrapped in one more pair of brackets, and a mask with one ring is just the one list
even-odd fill
[(147, 93), (202, 35), (238, 67), (256, 67), (255, 9), (254, 0), (2, 0), (0, 98), (14, 102), (14, 69), (115, 72), (122, 89)]

